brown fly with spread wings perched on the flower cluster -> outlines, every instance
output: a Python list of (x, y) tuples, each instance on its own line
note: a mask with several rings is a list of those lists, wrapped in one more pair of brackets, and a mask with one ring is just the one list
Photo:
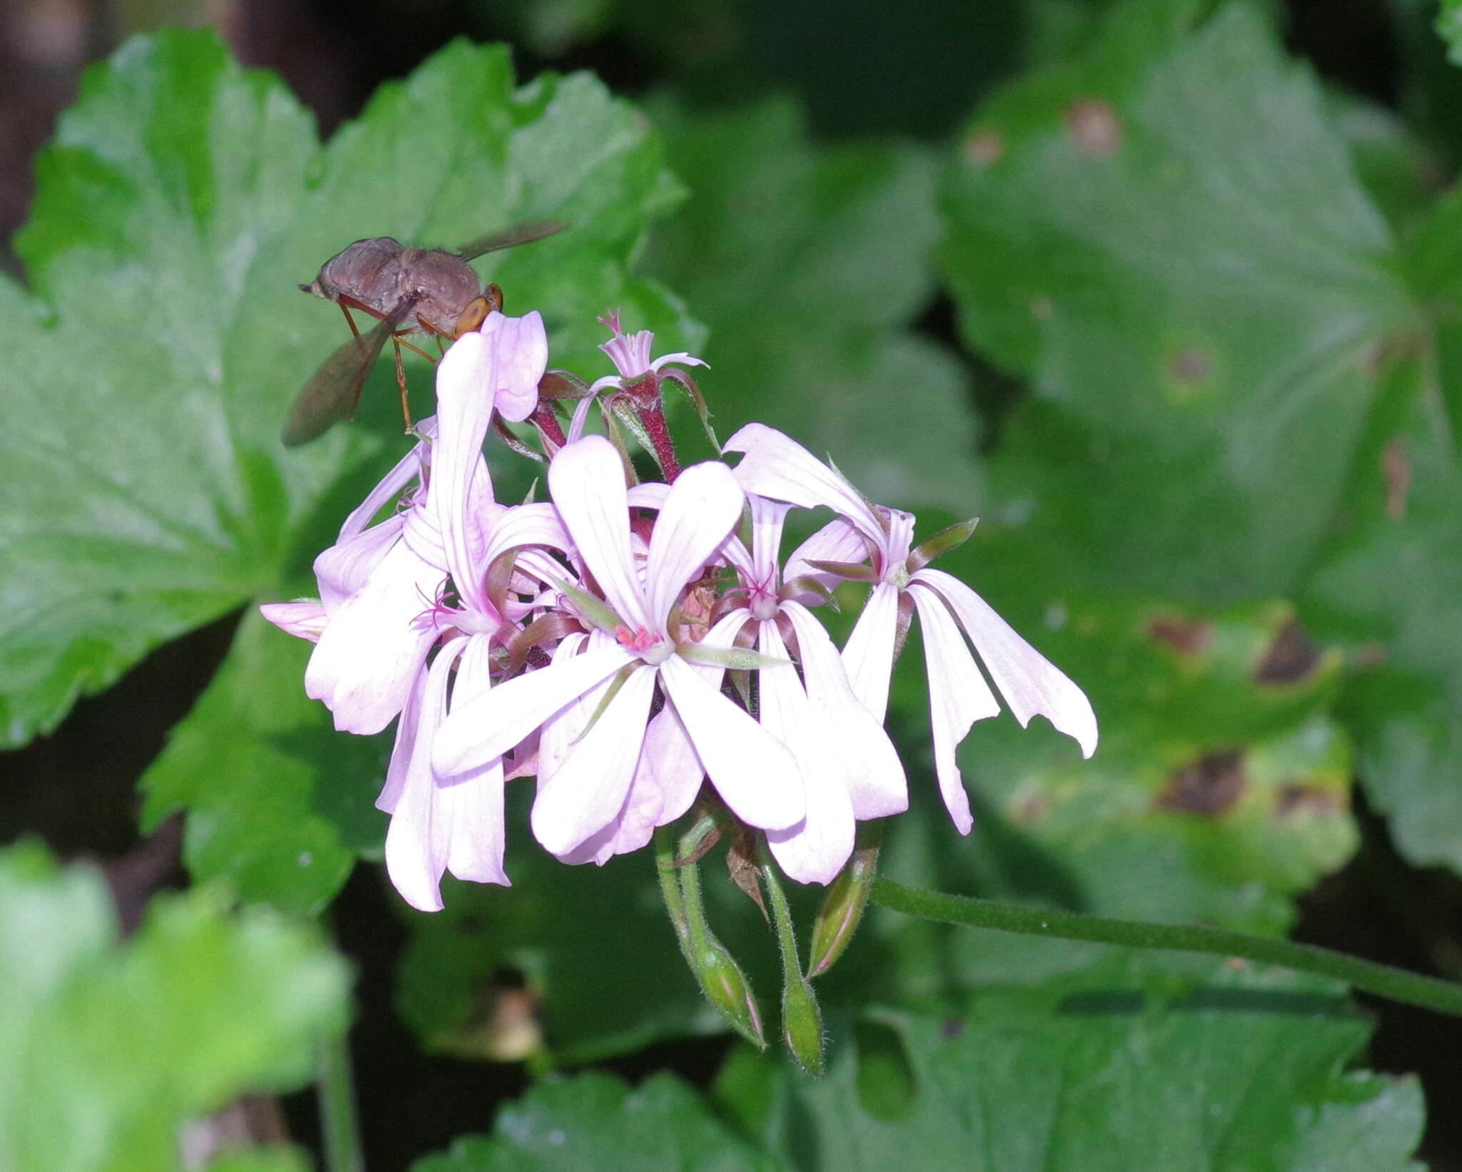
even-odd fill
[[(404, 340), (405, 336), (424, 333), (450, 342), (475, 330), (490, 313), (503, 308), (503, 291), (493, 284), (482, 285), (468, 262), (482, 253), (541, 240), (564, 227), (567, 225), (557, 221), (520, 224), (455, 250), (406, 248), (392, 237), (373, 237), (357, 240), (326, 260), (319, 276), (300, 288), (339, 305), (349, 323), (351, 339), (320, 364), (295, 396), (281, 433), (284, 446), (298, 447), (323, 435), (341, 419), (355, 415), (366, 376), (386, 339), (390, 339), (396, 354), (401, 415), (409, 433), (411, 408), (406, 402), (401, 348), (415, 351), (427, 361), (436, 359)], [(379, 321), (361, 333), (351, 310), (367, 313)]]

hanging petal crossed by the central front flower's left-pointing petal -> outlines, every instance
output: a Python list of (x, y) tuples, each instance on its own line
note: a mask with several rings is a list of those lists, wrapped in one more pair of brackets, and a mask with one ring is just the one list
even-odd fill
[[(452, 704), (481, 696), (490, 687), (488, 640), (475, 634), (458, 663)], [(447, 870), (469, 883), (510, 886), (503, 871), (503, 758), (452, 777), (437, 777), (437, 802), (449, 827)]]

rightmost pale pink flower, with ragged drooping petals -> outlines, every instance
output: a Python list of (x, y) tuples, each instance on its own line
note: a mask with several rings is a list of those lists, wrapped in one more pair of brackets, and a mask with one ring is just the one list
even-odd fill
[[(1096, 748), (1096, 716), (1086, 696), (965, 583), (924, 567), (918, 558), (911, 561), (911, 514), (876, 509), (839, 472), (763, 424), (741, 428), (725, 450), (744, 453), (735, 478), (747, 492), (804, 509), (826, 506), (841, 514), (808, 542), (820, 547), (814, 548), (811, 560), (852, 561), (846, 555), (829, 557), (826, 551), (849, 549), (854, 536), (861, 542), (857, 561), (870, 561), (874, 585), (842, 658), (854, 691), (880, 719), (887, 709), (901, 599), (908, 598), (918, 609), (928, 672), (934, 769), (944, 805), (961, 833), (969, 833), (972, 818), (955, 750), (975, 720), (1000, 712), (963, 636), (980, 653), (985, 671), (1022, 726), (1029, 725), (1032, 716), (1045, 716), (1080, 745), (1083, 757), (1091, 757)], [(806, 547), (798, 554), (803, 560), (808, 558)], [(791, 573), (794, 568), (789, 564)]]

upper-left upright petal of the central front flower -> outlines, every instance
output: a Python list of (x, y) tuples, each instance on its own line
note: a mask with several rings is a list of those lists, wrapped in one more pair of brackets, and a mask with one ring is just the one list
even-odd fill
[(564, 528), (614, 612), (654, 630), (630, 558), (630, 506), (624, 465), (602, 435), (585, 435), (548, 465), (548, 490)]

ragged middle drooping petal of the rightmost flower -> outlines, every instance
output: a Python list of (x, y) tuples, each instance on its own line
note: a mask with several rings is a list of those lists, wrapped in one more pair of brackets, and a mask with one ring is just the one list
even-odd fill
[(921, 583), (909, 586), (924, 627), (924, 666), (928, 672), (928, 719), (934, 734), (934, 776), (955, 829), (968, 834), (974, 826), (969, 795), (959, 777), (955, 750), (975, 720), (1000, 713), (994, 693), (975, 666), (955, 620), (939, 595)]

